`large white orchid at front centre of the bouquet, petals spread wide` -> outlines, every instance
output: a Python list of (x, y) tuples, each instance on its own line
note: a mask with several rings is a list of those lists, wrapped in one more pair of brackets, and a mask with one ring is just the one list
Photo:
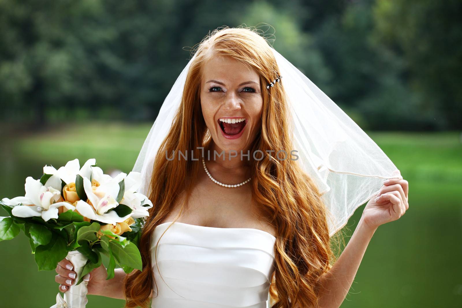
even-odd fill
[(116, 211), (111, 211), (111, 209), (119, 205), (116, 201), (120, 190), (119, 182), (122, 181), (126, 175), (127, 174), (121, 172), (121, 174), (117, 175), (115, 178), (111, 178), (110, 181), (100, 183), (95, 190), (91, 187), (90, 180), (84, 177), (84, 189), (91, 205), (83, 200), (79, 200), (76, 206), (77, 211), (87, 218), (102, 223), (111, 223), (113, 225), (121, 223), (130, 217), (131, 213), (124, 217), (120, 217), (117, 215)]

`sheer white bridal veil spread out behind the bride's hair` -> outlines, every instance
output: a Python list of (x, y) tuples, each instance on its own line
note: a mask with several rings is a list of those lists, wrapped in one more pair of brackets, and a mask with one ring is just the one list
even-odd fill
[[(310, 79), (270, 47), (290, 104), (293, 148), (298, 162), (316, 182), (331, 213), (329, 235), (343, 228), (348, 218), (371, 199), (385, 179), (402, 178), (378, 145)], [(180, 106), (191, 61), (176, 79), (141, 148), (133, 171), (141, 173), (146, 194), (154, 157)], [(271, 88), (270, 88), (271, 91)]]

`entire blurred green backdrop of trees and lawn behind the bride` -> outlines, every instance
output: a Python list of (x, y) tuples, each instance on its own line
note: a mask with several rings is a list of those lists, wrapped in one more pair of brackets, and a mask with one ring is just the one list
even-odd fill
[[(376, 231), (341, 307), (460, 307), (460, 12), (457, 0), (0, 0), (0, 198), (74, 158), (130, 172), (195, 45), (257, 26), (410, 183), (407, 215)], [(0, 306), (51, 306), (56, 273), (37, 271), (24, 234), (8, 242)]]

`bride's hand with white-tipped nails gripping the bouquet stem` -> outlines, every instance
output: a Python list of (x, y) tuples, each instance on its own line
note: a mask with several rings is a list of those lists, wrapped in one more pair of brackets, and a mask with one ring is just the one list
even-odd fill
[[(72, 263), (67, 259), (61, 260), (56, 266), (56, 272), (58, 275), (55, 276), (55, 281), (60, 284), (59, 290), (61, 292), (66, 292), (70, 285), (76, 283), (75, 278), (77, 277), (77, 274), (73, 271), (73, 269)], [(88, 281), (88, 294), (98, 295), (101, 293), (106, 285), (107, 277), (108, 273), (103, 263), (101, 263), (101, 266), (86, 274), (84, 276), (84, 280)]]

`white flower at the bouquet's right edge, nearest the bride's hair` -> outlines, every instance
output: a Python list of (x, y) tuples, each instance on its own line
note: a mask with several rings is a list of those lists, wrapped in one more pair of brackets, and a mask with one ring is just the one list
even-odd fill
[[(141, 173), (131, 171), (125, 177), (125, 193), (121, 204), (127, 205), (133, 211), (131, 217), (140, 218), (149, 216), (147, 211), (152, 207), (152, 202), (142, 193), (135, 193), (141, 186)], [(144, 200), (143, 204), (141, 202)], [(149, 206), (142, 206), (148, 204)]]

